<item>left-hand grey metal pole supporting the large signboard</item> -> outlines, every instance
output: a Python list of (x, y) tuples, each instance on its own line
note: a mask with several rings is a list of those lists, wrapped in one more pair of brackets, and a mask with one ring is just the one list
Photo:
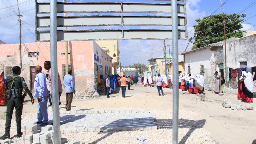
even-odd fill
[(57, 62), (57, 1), (50, 0), (51, 92), (53, 101), (54, 143), (60, 144), (60, 111)]

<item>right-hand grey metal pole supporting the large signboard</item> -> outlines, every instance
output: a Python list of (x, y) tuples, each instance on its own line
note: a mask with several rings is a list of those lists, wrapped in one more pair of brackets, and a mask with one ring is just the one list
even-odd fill
[(179, 123), (179, 63), (178, 63), (178, 13), (177, 0), (171, 1), (172, 41), (173, 41), (173, 144), (178, 144)]

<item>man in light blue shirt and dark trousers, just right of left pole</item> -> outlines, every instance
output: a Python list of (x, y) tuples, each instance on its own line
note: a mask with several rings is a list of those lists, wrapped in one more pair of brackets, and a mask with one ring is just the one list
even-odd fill
[(75, 84), (71, 69), (68, 69), (68, 75), (64, 76), (63, 87), (66, 93), (66, 111), (70, 111), (73, 94), (75, 94)]

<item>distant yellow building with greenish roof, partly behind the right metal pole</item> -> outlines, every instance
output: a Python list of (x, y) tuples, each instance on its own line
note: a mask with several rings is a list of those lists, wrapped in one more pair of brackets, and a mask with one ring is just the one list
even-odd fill
[[(165, 75), (165, 60), (164, 55), (161, 55), (157, 58), (153, 58), (148, 60), (149, 65), (148, 68), (151, 71), (157, 71), (161, 75)], [(173, 75), (173, 56), (166, 54), (166, 70), (167, 75)], [(183, 56), (179, 55), (179, 73), (184, 73), (184, 63)]]

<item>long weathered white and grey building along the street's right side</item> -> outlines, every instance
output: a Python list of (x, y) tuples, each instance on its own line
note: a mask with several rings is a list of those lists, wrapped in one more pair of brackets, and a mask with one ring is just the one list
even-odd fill
[[(256, 66), (255, 41), (256, 35), (243, 37), (241, 39), (234, 37), (227, 39), (227, 66), (233, 69)], [(181, 53), (181, 55), (184, 55), (185, 71), (194, 75), (203, 75), (205, 84), (213, 86), (213, 73), (215, 71), (220, 71), (221, 76), (224, 76), (226, 67), (224, 41), (187, 51)], [(235, 90), (237, 89), (237, 80), (238, 78), (226, 79), (224, 92), (237, 93), (237, 90)], [(254, 91), (256, 91), (256, 82), (254, 83)]]

